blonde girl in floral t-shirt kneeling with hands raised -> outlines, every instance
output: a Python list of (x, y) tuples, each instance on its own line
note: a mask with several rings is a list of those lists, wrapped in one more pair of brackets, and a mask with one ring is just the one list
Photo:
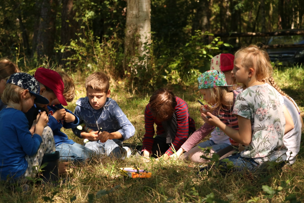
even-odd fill
[(265, 83), (272, 73), (268, 59), (268, 54), (255, 45), (241, 48), (235, 54), (232, 73), (244, 88), (233, 108), (239, 122), (238, 130), (224, 125), (210, 113), (202, 113), (206, 123), (219, 127), (230, 138), (245, 145), (244, 151), (228, 157), (240, 170), (253, 170), (268, 160), (285, 160), (286, 147), (282, 138), (294, 128), (282, 96)]

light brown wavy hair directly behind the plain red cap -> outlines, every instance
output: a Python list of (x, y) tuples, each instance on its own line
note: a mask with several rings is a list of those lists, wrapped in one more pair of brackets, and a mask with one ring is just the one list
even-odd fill
[(65, 100), (67, 102), (72, 102), (75, 97), (74, 80), (69, 75), (67, 75), (67, 73), (63, 71), (57, 71), (57, 73), (61, 76), (64, 84), (63, 96)]

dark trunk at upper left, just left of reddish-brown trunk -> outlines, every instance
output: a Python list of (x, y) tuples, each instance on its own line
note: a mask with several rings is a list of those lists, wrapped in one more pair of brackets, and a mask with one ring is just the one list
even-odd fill
[(42, 0), (37, 40), (38, 57), (51, 58), (53, 56), (57, 4), (57, 0)]

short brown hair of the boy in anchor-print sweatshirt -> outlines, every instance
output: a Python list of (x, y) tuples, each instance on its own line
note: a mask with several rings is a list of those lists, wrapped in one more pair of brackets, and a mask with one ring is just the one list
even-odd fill
[(110, 79), (108, 75), (102, 72), (95, 72), (85, 80), (85, 89), (91, 87), (94, 90), (107, 92), (110, 88)]

